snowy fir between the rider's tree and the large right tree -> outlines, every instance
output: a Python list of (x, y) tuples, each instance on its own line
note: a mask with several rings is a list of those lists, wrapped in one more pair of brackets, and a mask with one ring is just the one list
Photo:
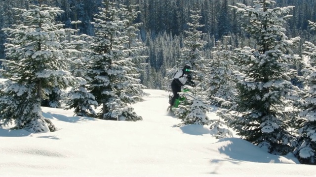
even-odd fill
[[(224, 36), (224, 41), (219, 41), (213, 48), (212, 56), (209, 62), (208, 77), (208, 97), (211, 105), (217, 107), (226, 107), (227, 102), (234, 102), (236, 97), (236, 78), (234, 75), (234, 61), (231, 58), (231, 45), (228, 44), (230, 36)], [(222, 103), (225, 103), (222, 105)], [(231, 104), (229, 104), (231, 105)]]

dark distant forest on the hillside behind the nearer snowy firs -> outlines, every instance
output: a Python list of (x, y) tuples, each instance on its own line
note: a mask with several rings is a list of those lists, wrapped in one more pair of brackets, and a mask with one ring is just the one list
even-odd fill
[[(240, 19), (236, 10), (229, 5), (243, 3), (252, 5), (252, 0), (117, 0), (125, 5), (138, 4), (137, 18), (134, 23), (142, 23), (140, 37), (148, 47), (146, 77), (142, 77), (142, 83), (148, 88), (165, 89), (162, 78), (166, 76), (166, 70), (175, 64), (179, 58), (184, 31), (188, 29), (190, 10), (200, 10), (200, 27), (205, 35), (203, 39), (207, 45), (203, 50), (205, 55), (211, 55), (217, 41), (222, 41), (223, 36), (232, 36), (230, 45), (233, 48), (242, 46), (254, 46), (255, 41), (245, 33), (239, 24)], [(28, 8), (29, 4), (37, 4), (38, 0), (2, 0), (0, 1), (0, 29), (6, 28), (16, 22), (13, 7)], [(102, 0), (42, 0), (43, 4), (59, 7), (65, 12), (57, 16), (57, 20), (65, 24), (65, 28), (79, 29), (79, 33), (94, 35), (94, 14), (102, 7)], [(295, 6), (290, 18), (285, 24), (286, 34), (289, 37), (300, 36), (301, 44), (297, 53), (302, 53), (302, 45), (305, 40), (315, 42), (314, 32), (308, 29), (308, 20), (316, 21), (315, 0), (276, 0), (276, 6)], [(72, 24), (72, 21), (81, 21), (80, 24)], [(5, 34), (0, 31), (0, 58), (4, 58)]]

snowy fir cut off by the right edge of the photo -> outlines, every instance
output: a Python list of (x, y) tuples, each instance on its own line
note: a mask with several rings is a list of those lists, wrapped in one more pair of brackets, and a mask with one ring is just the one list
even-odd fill
[[(309, 21), (312, 30), (316, 30), (316, 23)], [(303, 54), (307, 57), (303, 61), (304, 97), (299, 108), (303, 111), (299, 122), (299, 135), (294, 141), (294, 155), (301, 163), (316, 165), (316, 46), (305, 41)]]

